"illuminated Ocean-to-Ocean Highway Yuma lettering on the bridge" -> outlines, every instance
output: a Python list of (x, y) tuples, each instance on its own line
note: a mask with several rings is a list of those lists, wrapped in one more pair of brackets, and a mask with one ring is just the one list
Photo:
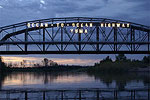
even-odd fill
[(71, 26), (74, 29), (70, 29), (71, 33), (88, 33), (88, 29), (90, 27), (93, 27), (96, 25), (99, 25), (100, 27), (121, 27), (121, 28), (129, 28), (129, 23), (55, 23), (55, 24), (48, 24), (48, 23), (27, 23), (28, 28), (34, 28), (34, 27), (69, 27)]

